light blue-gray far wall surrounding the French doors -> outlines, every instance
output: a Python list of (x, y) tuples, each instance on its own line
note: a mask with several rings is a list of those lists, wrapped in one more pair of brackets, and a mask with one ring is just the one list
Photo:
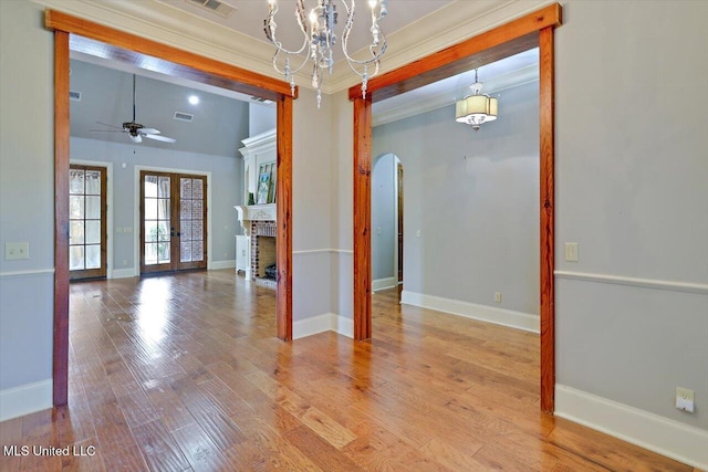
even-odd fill
[(114, 269), (135, 269), (138, 264), (134, 260), (138, 229), (134, 228), (128, 234), (115, 231), (135, 224), (135, 166), (211, 172), (211, 201), (207, 202), (211, 209), (211, 248), (208, 252), (212, 262), (235, 261), (233, 237), (240, 234), (241, 227), (233, 206), (243, 203), (242, 159), (75, 137), (71, 139), (71, 158), (114, 165), (113, 182), (108, 182), (113, 186), (113, 202), (110, 203), (113, 204)]

